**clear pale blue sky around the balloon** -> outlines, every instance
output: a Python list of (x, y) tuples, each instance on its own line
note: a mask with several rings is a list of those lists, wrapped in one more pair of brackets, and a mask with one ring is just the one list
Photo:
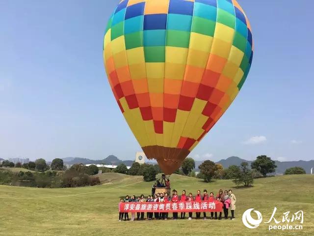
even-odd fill
[[(134, 159), (140, 147), (102, 58), (117, 2), (0, 0), (1, 158)], [(252, 25), (253, 65), (234, 103), (190, 156), (314, 159), (314, 2), (238, 2)]]

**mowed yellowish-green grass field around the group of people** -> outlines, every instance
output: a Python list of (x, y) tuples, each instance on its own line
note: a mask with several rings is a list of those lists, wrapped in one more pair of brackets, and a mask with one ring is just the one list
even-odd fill
[[(234, 221), (119, 222), (119, 197), (142, 193), (147, 196), (151, 193), (153, 182), (137, 183), (141, 177), (113, 173), (103, 174), (101, 178), (103, 182), (107, 179), (110, 183), (63, 189), (0, 185), (0, 236), (314, 235), (314, 175), (260, 178), (255, 180), (254, 187), (239, 189), (231, 180), (205, 183), (197, 178), (171, 176), (171, 187), (179, 193), (183, 189), (193, 194), (197, 189), (207, 189), (216, 194), (219, 188), (233, 189), (237, 198)], [(268, 224), (264, 223), (257, 229), (248, 229), (243, 225), (241, 216), (246, 209), (259, 210), (265, 222), (274, 207), (278, 208), (277, 220), (282, 220), (286, 211), (294, 213), (303, 210), (303, 230), (268, 231)]]

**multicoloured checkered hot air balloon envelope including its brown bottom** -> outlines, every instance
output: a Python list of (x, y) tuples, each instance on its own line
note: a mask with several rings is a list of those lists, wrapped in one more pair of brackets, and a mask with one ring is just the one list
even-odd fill
[(250, 23), (236, 0), (122, 0), (104, 61), (149, 159), (172, 174), (224, 114), (250, 70)]

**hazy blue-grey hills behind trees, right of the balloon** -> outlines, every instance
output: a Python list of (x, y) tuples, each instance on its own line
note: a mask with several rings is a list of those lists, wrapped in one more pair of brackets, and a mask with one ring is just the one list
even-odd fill
[[(217, 161), (216, 163), (219, 163), (223, 165), (224, 168), (228, 168), (229, 166), (236, 165), (239, 166), (241, 162), (247, 162), (249, 163), (249, 166), (251, 166), (252, 161), (247, 161), (244, 159), (241, 159), (237, 156), (231, 156), (227, 159), (222, 159), (220, 161)], [(314, 160), (311, 161), (275, 161), (277, 168), (276, 168), (276, 174), (283, 174), (288, 168), (299, 166), (302, 167), (307, 174), (311, 174), (311, 168), (314, 167)], [(196, 165), (195, 165), (196, 167)], [(198, 167), (198, 166), (197, 166)]]

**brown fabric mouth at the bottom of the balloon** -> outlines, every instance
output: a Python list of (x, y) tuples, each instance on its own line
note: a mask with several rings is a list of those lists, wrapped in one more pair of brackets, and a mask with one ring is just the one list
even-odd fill
[(142, 148), (148, 159), (156, 159), (165, 175), (171, 175), (178, 170), (190, 153), (188, 149), (147, 146)]

